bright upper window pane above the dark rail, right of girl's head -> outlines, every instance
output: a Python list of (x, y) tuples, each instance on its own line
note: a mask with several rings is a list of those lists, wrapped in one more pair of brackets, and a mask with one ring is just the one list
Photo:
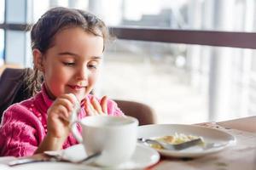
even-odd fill
[(94, 8), (89, 9), (110, 26), (256, 31), (253, 0), (98, 0), (91, 3)]

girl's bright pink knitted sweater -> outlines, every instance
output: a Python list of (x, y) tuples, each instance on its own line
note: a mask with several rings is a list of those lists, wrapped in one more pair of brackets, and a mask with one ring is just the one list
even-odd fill
[[(89, 96), (89, 98), (91, 95)], [(0, 125), (0, 156), (32, 156), (47, 133), (47, 110), (53, 100), (49, 99), (45, 89), (20, 103), (11, 105), (3, 113)], [(120, 116), (113, 100), (108, 100), (108, 115)], [(82, 107), (79, 118), (86, 116)], [(79, 132), (81, 127), (78, 126)], [(62, 148), (78, 144), (72, 134), (69, 134)]]

